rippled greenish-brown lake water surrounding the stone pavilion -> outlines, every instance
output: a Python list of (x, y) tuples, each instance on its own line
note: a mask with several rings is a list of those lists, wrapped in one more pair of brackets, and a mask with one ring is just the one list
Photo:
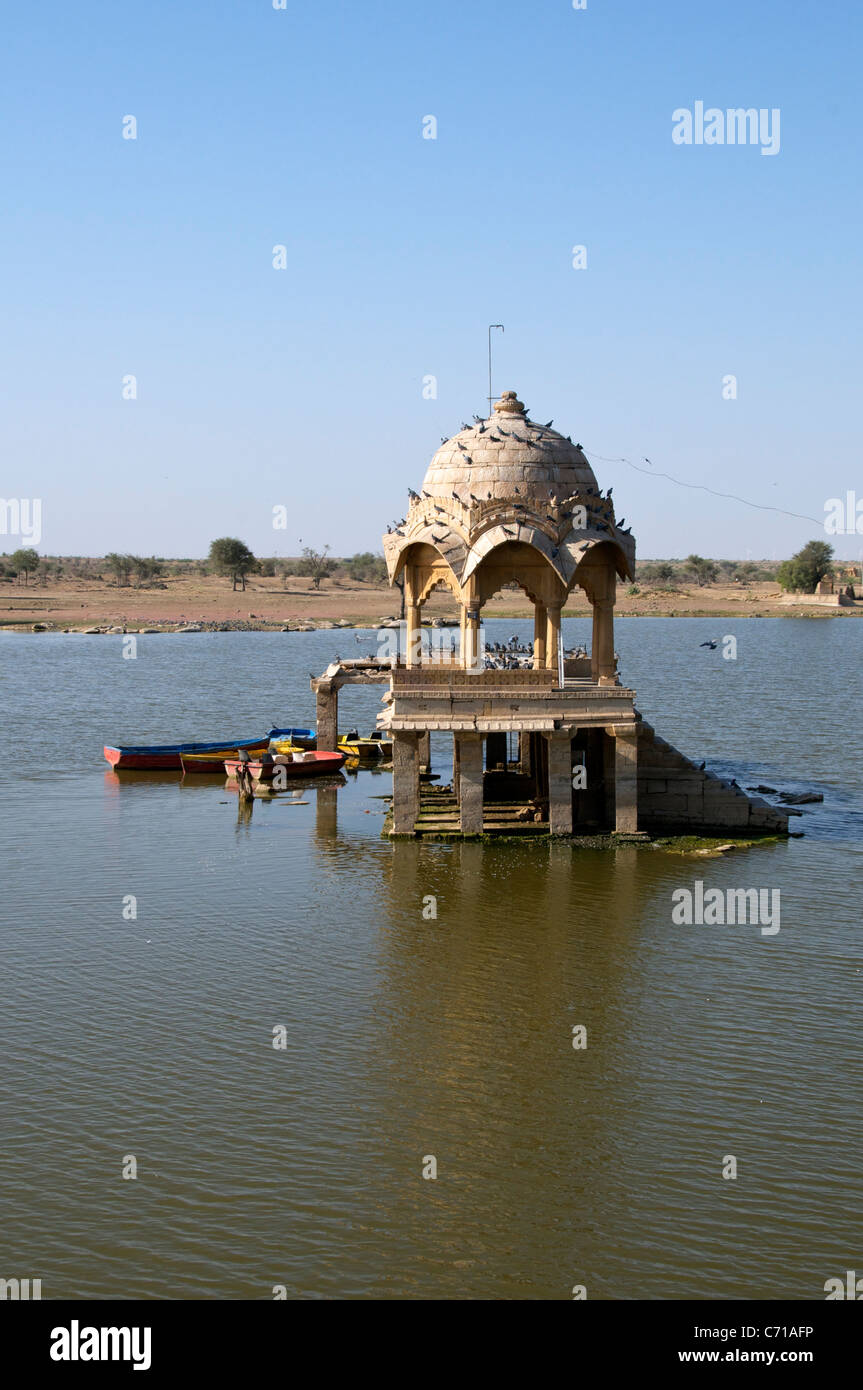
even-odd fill
[[(699, 648), (725, 632), (735, 662)], [(313, 723), (310, 673), (375, 634), (139, 637), (136, 660), (0, 634), (0, 1277), (823, 1298), (863, 1268), (863, 624), (620, 620), (616, 645), (685, 753), (824, 792), (805, 838), (392, 845), (375, 773), (238, 819), (220, 780), (120, 778), (101, 745)], [(342, 727), (381, 694), (345, 692)], [(778, 888), (780, 933), (674, 926), (695, 878)]]

